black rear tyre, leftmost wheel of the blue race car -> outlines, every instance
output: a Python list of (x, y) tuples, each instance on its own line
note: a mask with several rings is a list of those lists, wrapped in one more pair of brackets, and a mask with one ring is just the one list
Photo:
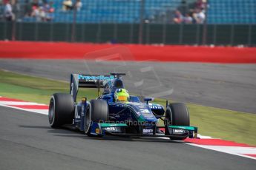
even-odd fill
[(70, 94), (55, 93), (50, 98), (48, 118), (52, 128), (71, 124), (74, 116), (74, 102)]

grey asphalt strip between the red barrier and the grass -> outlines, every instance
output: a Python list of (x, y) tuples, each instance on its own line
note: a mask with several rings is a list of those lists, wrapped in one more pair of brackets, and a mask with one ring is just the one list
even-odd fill
[(62, 81), (71, 72), (126, 72), (126, 89), (142, 96), (256, 113), (256, 64), (1, 59), (0, 69)]

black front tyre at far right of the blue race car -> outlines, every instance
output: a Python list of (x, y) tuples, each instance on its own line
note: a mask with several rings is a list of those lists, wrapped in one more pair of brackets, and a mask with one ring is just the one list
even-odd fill
[[(185, 103), (170, 103), (165, 111), (165, 126), (190, 126), (188, 108)], [(167, 128), (167, 127), (166, 127)], [(168, 129), (165, 132), (168, 133)], [(168, 134), (167, 134), (168, 135)], [(184, 140), (186, 137), (170, 137), (171, 140)]]

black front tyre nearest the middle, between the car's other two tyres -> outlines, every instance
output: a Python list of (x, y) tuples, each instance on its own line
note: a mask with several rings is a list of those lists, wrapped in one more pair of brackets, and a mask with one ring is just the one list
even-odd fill
[(91, 100), (86, 108), (84, 127), (85, 134), (91, 135), (91, 125), (93, 122), (105, 122), (108, 120), (108, 103), (103, 100)]

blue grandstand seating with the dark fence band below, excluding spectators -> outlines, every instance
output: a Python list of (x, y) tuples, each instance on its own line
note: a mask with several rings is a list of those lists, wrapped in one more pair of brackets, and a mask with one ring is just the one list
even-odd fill
[(4, 21), (0, 6), (0, 40), (256, 46), (256, 0), (207, 0), (200, 24), (174, 22), (175, 11), (193, 16), (200, 0), (81, 0), (79, 10), (54, 0), (49, 21), (27, 13), (31, 1), (19, 0), (13, 22)]

